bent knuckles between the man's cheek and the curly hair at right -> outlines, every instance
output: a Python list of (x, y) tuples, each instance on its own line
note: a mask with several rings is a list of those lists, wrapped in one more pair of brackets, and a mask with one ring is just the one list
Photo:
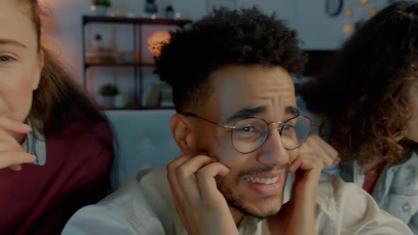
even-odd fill
[(300, 146), (300, 153), (311, 153), (322, 159), (324, 167), (338, 164), (341, 159), (338, 157), (338, 152), (331, 147), (327, 142), (324, 142), (317, 134), (312, 134), (307, 137), (305, 143)]

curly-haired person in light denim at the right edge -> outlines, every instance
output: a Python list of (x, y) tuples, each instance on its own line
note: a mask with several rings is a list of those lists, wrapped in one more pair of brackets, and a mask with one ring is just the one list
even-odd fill
[(329, 172), (418, 234), (418, 4), (384, 8), (299, 92), (339, 151)]

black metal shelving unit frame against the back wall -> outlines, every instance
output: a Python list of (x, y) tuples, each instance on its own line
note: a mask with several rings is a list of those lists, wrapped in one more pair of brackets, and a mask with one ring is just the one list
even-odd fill
[[(132, 25), (132, 35), (133, 35), (133, 52), (139, 53), (140, 62), (98, 62), (91, 63), (87, 62), (86, 59), (86, 25), (89, 23), (107, 23), (107, 24), (128, 24)], [(126, 109), (142, 109), (145, 108), (142, 105), (142, 94), (143, 94), (143, 68), (152, 67), (154, 64), (149, 62), (142, 63), (142, 26), (143, 25), (176, 25), (182, 27), (187, 23), (191, 23), (189, 20), (168, 20), (168, 19), (150, 19), (150, 18), (128, 18), (128, 17), (107, 17), (107, 16), (83, 16), (82, 18), (82, 27), (81, 27), (81, 36), (82, 36), (82, 53), (83, 53), (83, 64), (84, 64), (84, 73), (83, 73), (83, 85), (86, 91), (89, 91), (87, 86), (87, 80), (89, 76), (87, 70), (92, 67), (132, 67), (133, 76), (134, 76), (134, 91), (135, 91), (135, 107), (126, 108)]]

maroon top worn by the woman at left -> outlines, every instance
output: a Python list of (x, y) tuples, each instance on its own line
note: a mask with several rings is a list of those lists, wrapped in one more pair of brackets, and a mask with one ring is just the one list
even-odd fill
[[(112, 143), (107, 125), (94, 130)], [(74, 212), (107, 193), (111, 144), (80, 124), (45, 138), (45, 166), (0, 169), (0, 234), (60, 234)]]

